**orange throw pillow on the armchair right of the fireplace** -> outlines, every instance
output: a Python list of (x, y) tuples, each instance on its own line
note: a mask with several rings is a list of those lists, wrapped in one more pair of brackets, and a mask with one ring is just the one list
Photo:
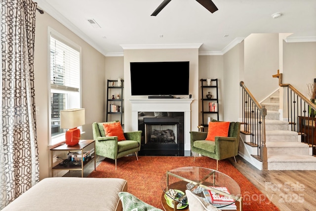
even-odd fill
[(209, 122), (207, 137), (205, 140), (215, 141), (215, 136), (228, 136), (230, 122)]

